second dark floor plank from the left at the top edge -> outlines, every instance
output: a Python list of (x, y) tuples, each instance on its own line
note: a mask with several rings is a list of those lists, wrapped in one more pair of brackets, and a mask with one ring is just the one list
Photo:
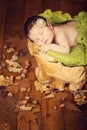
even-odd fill
[(4, 43), (12, 42), (14, 47), (26, 49), (28, 52), (27, 44), (25, 44), (25, 41), (23, 43), (25, 2), (25, 0), (9, 0)]

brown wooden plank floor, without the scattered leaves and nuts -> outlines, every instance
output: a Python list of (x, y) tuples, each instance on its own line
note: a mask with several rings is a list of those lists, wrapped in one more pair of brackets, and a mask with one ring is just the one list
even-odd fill
[[(0, 64), (3, 61), (3, 46), (12, 42), (12, 46), (18, 50), (26, 52), (25, 57), (20, 62), (31, 61), (32, 66), (28, 76), (19, 81), (19, 85), (8, 87), (7, 90), (14, 93), (13, 98), (1, 95), (0, 90), (0, 130), (86, 130), (87, 129), (87, 106), (81, 107), (81, 112), (70, 111), (64, 107), (54, 109), (60, 104), (63, 92), (57, 93), (56, 98), (44, 99), (44, 94), (35, 91), (34, 88), (34, 68), (36, 63), (30, 56), (27, 43), (22, 42), (24, 38), (23, 25), (25, 20), (32, 15), (41, 13), (45, 9), (63, 10), (71, 15), (79, 11), (87, 11), (86, 0), (0, 0)], [(8, 39), (9, 38), (9, 39)], [(6, 41), (8, 39), (8, 41)], [(19, 41), (18, 41), (19, 39)], [(7, 75), (6, 71), (0, 70), (0, 74)], [(36, 114), (36, 122), (31, 120), (18, 120), (18, 112), (14, 112), (18, 91), (20, 87), (31, 87), (30, 93), (33, 100), (38, 100), (40, 111)], [(66, 95), (66, 94), (65, 94)], [(3, 97), (3, 98), (2, 98)], [(70, 100), (70, 97), (68, 97)], [(3, 113), (3, 114), (2, 114)], [(29, 113), (28, 113), (29, 114)]]

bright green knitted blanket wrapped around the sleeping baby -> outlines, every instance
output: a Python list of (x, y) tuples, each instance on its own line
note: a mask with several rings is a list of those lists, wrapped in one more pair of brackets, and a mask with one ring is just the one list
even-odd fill
[(69, 20), (76, 20), (76, 29), (79, 32), (77, 46), (71, 49), (69, 54), (61, 54), (55, 51), (48, 51), (47, 54), (53, 56), (56, 60), (66, 66), (83, 66), (87, 65), (87, 12), (79, 12), (76, 16), (71, 17), (69, 13), (62, 11), (52, 12), (50, 9), (40, 14), (52, 24), (63, 23)]

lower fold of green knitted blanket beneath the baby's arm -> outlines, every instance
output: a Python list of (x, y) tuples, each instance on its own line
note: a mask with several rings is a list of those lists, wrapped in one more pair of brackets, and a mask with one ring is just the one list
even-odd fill
[(48, 55), (53, 56), (57, 61), (66, 66), (83, 66), (87, 64), (86, 47), (82, 44), (71, 49), (69, 54), (62, 54), (54, 51), (48, 51)]

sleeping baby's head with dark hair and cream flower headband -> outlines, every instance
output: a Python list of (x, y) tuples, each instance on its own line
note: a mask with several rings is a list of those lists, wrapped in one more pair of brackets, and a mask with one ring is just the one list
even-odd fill
[(29, 17), (24, 24), (26, 38), (41, 46), (53, 40), (52, 26), (48, 21), (38, 15)]

